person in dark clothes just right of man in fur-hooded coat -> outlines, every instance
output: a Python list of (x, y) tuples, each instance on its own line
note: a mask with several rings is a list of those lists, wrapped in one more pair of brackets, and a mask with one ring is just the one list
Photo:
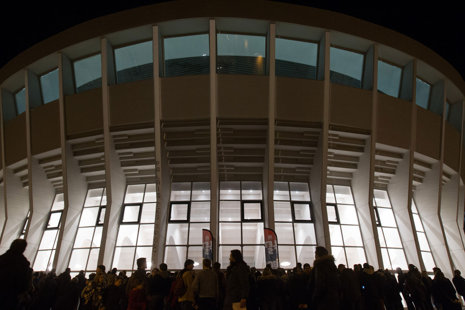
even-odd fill
[(340, 273), (339, 279), (341, 281), (341, 309), (362, 309), (360, 303), (361, 293), (359, 276), (357, 276), (352, 268), (345, 268), (343, 264), (339, 264), (338, 270)]

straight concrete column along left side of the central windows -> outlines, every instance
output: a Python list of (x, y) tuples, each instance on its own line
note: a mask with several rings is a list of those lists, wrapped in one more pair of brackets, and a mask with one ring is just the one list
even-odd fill
[(216, 27), (215, 20), (209, 21), (210, 48), (210, 231), (213, 236), (213, 259), (218, 261), (218, 219), (219, 219), (219, 176), (218, 140), (216, 133)]

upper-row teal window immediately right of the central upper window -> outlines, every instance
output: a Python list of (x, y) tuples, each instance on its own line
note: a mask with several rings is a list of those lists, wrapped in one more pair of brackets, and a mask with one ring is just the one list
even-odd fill
[(318, 44), (276, 38), (277, 76), (316, 79)]

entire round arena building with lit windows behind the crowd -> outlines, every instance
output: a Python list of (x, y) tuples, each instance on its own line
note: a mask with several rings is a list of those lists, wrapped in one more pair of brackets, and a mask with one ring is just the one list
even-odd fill
[[(244, 8), (247, 9), (244, 9)], [(114, 13), (0, 70), (0, 251), (34, 270), (181, 269), (202, 229), (279, 262), (465, 270), (464, 93), (400, 33), (284, 3)], [(197, 264), (195, 268), (201, 268)]]

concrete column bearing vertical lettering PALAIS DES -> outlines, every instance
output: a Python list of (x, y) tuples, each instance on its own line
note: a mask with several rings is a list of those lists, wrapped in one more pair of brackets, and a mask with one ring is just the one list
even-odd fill
[(152, 266), (158, 266), (163, 262), (163, 253), (165, 250), (171, 182), (168, 158), (161, 133), (160, 75), (163, 72), (163, 67), (160, 68), (160, 66), (163, 66), (163, 62), (160, 62), (159, 59), (163, 55), (163, 50), (158, 26), (153, 26), (152, 34), (153, 104), (155, 106), (155, 176), (157, 179), (157, 207), (155, 213), (155, 231), (153, 233)]

